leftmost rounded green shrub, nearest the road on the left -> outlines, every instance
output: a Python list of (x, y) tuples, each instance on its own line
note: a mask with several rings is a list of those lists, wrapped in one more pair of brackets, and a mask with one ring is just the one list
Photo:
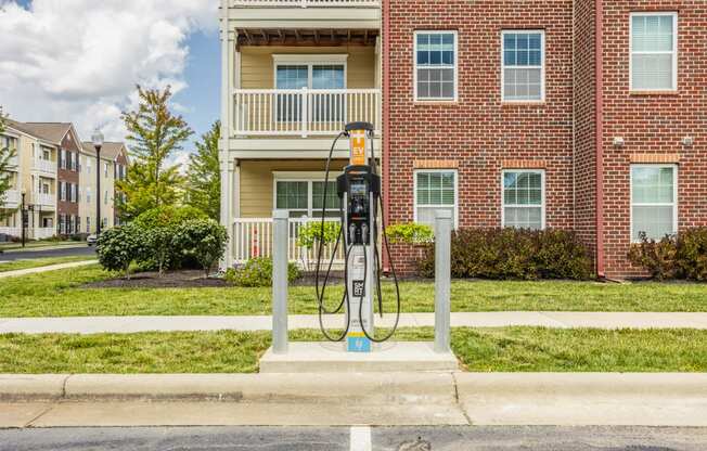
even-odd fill
[(108, 229), (99, 235), (97, 253), (99, 263), (107, 271), (119, 271), (129, 280), (130, 265), (144, 252), (139, 228), (124, 226)]

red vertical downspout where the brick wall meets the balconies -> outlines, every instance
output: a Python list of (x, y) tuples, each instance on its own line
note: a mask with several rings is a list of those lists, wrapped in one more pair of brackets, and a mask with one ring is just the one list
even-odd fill
[[(390, 0), (381, 1), (381, 57), (383, 85), (381, 115), (383, 119), (383, 217), (385, 223), (390, 223)], [(385, 233), (385, 232), (384, 232)], [(390, 271), (388, 253), (383, 254), (383, 272)]]

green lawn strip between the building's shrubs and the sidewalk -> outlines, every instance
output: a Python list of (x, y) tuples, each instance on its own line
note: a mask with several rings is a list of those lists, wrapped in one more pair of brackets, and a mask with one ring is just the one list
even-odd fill
[[(98, 266), (0, 281), (0, 317), (239, 315), (267, 314), (270, 288), (102, 288), (81, 285), (106, 279)], [(384, 286), (386, 311), (393, 285)], [(338, 304), (343, 287), (327, 292)], [(401, 285), (403, 311), (434, 311), (434, 284)], [(453, 311), (707, 311), (707, 285), (689, 283), (454, 281)], [(291, 287), (290, 311), (316, 313), (314, 288)]]

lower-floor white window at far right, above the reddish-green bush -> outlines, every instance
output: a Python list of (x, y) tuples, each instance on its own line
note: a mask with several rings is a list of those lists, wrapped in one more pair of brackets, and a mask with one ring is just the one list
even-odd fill
[(631, 167), (631, 237), (660, 240), (678, 232), (678, 169), (676, 166)]

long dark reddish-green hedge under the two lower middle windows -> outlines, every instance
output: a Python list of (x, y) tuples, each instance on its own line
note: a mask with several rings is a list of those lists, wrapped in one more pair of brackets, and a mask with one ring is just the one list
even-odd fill
[[(451, 272), (457, 279), (592, 278), (592, 260), (579, 239), (562, 230), (460, 229), (452, 233)], [(435, 248), (419, 262), (421, 275), (435, 274)]]

